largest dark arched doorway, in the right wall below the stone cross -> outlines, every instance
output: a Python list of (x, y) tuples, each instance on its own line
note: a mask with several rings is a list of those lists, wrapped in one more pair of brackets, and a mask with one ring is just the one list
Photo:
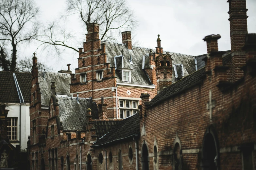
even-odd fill
[(213, 127), (206, 130), (202, 146), (202, 170), (219, 170), (219, 147)]

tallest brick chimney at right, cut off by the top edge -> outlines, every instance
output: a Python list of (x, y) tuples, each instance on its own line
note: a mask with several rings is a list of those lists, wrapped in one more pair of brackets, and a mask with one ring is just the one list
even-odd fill
[(230, 41), (232, 56), (232, 77), (233, 82), (241, 79), (244, 75), (241, 68), (245, 65), (246, 54), (242, 49), (245, 45), (247, 34), (247, 8), (246, 0), (228, 0), (229, 21), (230, 21)]

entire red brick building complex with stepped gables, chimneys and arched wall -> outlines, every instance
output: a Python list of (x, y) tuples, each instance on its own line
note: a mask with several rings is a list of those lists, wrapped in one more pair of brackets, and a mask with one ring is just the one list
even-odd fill
[(34, 57), (30, 168), (255, 169), (256, 34), (246, 0), (228, 3), (230, 51), (218, 51), (218, 34), (195, 58), (163, 51), (160, 38), (156, 50), (134, 47), (130, 32), (104, 42), (92, 23), (66, 96)]

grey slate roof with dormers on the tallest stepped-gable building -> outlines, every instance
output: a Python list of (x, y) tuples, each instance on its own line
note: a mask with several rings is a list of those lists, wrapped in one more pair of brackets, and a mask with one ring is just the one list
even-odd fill
[[(111, 43), (107, 41), (102, 41), (101, 43), (106, 44), (106, 53), (107, 53), (107, 62), (110, 63), (111, 67), (115, 67), (114, 63), (114, 57), (119, 56), (123, 54), (123, 61), (121, 62), (121, 58), (117, 59), (117, 70), (116, 70), (116, 81), (117, 82), (123, 82), (122, 81), (122, 75), (121, 71), (118, 71), (118, 69), (124, 67), (124, 68), (130, 68), (131, 70), (131, 83), (137, 83), (137, 84), (145, 84), (145, 85), (151, 85), (151, 82), (146, 74), (146, 72), (142, 69), (142, 56), (145, 57), (145, 68), (149, 68), (149, 58), (148, 54), (150, 53), (149, 48), (144, 47), (136, 47), (132, 46), (132, 50), (129, 50), (124, 44), (118, 44), (118, 43)], [(153, 49), (153, 52), (155, 50)], [(163, 54), (166, 54), (167, 51), (163, 51)], [(132, 63), (130, 63), (130, 56), (132, 55)], [(170, 52), (170, 55), (172, 57), (172, 64), (183, 64), (184, 70), (188, 72), (188, 74), (191, 74), (192, 72), (196, 71), (195, 68), (195, 59), (191, 55), (185, 55), (185, 54), (179, 54), (179, 53), (173, 53)], [(123, 66), (121, 66), (121, 63)], [(172, 76), (172, 82), (176, 82), (177, 79), (175, 79), (175, 74), (173, 71)]]

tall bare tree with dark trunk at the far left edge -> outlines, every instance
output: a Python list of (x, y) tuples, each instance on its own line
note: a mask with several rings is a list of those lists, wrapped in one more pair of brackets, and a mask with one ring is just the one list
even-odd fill
[[(37, 35), (38, 12), (32, 0), (0, 0), (0, 61), (4, 71), (16, 71), (18, 44), (29, 42)], [(4, 46), (11, 46), (10, 60)]]

